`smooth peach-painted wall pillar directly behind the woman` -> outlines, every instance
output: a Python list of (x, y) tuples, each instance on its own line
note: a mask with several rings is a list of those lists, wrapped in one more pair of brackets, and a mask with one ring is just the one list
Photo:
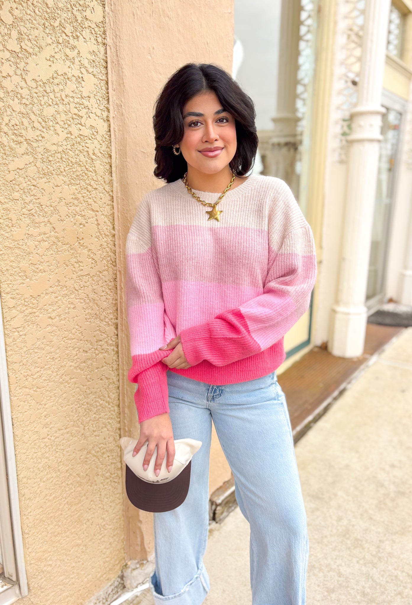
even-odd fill
[[(111, 114), (116, 250), (119, 283), (119, 362), (122, 434), (138, 437), (124, 304), (124, 246), (145, 192), (163, 185), (153, 177), (153, 105), (165, 81), (188, 61), (216, 63), (231, 73), (233, 0), (107, 0), (108, 73)], [(211, 488), (230, 477), (213, 436)], [(153, 552), (153, 515), (125, 499), (128, 558)]]

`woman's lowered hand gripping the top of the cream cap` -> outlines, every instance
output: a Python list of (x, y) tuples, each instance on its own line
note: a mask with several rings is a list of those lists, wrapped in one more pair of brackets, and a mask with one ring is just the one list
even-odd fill
[(132, 456), (136, 456), (138, 451), (148, 441), (147, 451), (143, 460), (143, 470), (145, 471), (149, 465), (151, 457), (154, 453), (154, 448), (158, 446), (158, 454), (154, 463), (154, 474), (158, 477), (160, 468), (167, 450), (166, 466), (170, 473), (174, 460), (174, 440), (173, 429), (171, 428), (170, 416), (167, 412), (153, 416), (147, 420), (142, 420), (140, 423), (140, 436), (135, 445)]

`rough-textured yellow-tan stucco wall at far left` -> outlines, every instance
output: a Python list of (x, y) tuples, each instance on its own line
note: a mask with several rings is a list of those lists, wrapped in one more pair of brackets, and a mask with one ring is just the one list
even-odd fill
[(0, 2), (0, 292), (29, 597), (124, 563), (104, 0)]

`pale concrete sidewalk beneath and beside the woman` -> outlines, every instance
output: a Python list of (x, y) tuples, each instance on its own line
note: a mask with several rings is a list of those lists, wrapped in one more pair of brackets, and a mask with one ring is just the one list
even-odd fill
[[(307, 605), (412, 603), (411, 408), (409, 328), (297, 443), (310, 538)], [(205, 605), (251, 604), (249, 536), (239, 508), (211, 526)], [(153, 601), (142, 595), (135, 603)]]

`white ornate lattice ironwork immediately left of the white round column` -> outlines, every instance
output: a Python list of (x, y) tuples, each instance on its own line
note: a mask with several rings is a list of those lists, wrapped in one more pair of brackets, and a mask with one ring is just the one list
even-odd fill
[(357, 84), (361, 71), (365, 0), (342, 0), (339, 10), (341, 59), (336, 71), (336, 160), (346, 162), (346, 137), (351, 131), (350, 112), (356, 105)]

